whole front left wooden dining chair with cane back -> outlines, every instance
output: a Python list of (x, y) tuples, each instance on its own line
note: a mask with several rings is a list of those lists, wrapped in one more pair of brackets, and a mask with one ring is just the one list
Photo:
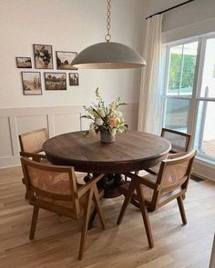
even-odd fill
[(76, 220), (83, 218), (78, 254), (78, 260), (81, 260), (86, 244), (92, 203), (95, 203), (100, 223), (105, 230), (100, 196), (97, 191), (97, 182), (103, 178), (103, 174), (78, 187), (77, 177), (71, 166), (47, 165), (26, 157), (21, 158), (21, 163), (26, 180), (28, 202), (34, 206), (29, 239), (35, 238), (40, 208)]

